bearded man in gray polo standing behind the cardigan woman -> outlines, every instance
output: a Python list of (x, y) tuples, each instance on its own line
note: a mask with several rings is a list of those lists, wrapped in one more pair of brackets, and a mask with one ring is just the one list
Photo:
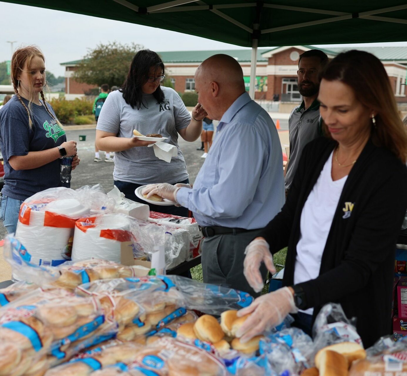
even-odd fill
[(293, 182), (295, 171), (304, 146), (322, 135), (319, 116), (319, 73), (328, 63), (328, 56), (321, 50), (308, 50), (298, 60), (298, 91), (303, 96), (302, 103), (295, 107), (288, 120), (290, 155), (285, 165), (286, 196)]

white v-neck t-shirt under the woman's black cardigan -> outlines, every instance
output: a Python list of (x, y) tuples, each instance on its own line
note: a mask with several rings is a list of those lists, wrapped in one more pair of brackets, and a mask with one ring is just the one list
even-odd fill
[[(326, 161), (304, 208), (302, 208), (301, 234), (297, 243), (294, 284), (313, 280), (319, 275), (326, 239), (338, 206), (339, 197), (348, 177), (346, 175), (339, 180), (332, 180), (332, 157), (333, 152)], [(312, 315), (313, 311), (313, 308), (309, 308), (302, 312)]]

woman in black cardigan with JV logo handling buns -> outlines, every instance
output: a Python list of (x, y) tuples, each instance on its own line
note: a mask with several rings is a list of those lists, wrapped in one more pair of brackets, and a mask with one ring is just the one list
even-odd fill
[(283, 287), (258, 297), (238, 333), (247, 341), (293, 313), (311, 333), (328, 302), (357, 318), (365, 347), (390, 334), (397, 236), (407, 207), (407, 136), (383, 64), (348, 51), (322, 73), (318, 100), (328, 137), (304, 149), (287, 201), (246, 248), (244, 271), (263, 286), (261, 262), (288, 245)]

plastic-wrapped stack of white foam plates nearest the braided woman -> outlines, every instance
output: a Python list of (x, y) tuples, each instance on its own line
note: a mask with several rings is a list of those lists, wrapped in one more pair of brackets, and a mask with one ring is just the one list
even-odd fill
[[(114, 200), (99, 188), (49, 188), (24, 201), (15, 237), (30, 252), (32, 263), (57, 266), (70, 258), (75, 221), (114, 208)], [(13, 275), (22, 279), (18, 270)]]

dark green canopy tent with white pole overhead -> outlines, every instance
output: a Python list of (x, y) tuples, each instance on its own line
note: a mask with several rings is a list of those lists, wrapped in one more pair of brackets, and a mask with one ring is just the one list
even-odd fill
[[(257, 48), (407, 39), (404, 0), (25, 0), (7, 2), (109, 18), (252, 47), (254, 96)], [(165, 33), (163, 33), (165, 37)]]

